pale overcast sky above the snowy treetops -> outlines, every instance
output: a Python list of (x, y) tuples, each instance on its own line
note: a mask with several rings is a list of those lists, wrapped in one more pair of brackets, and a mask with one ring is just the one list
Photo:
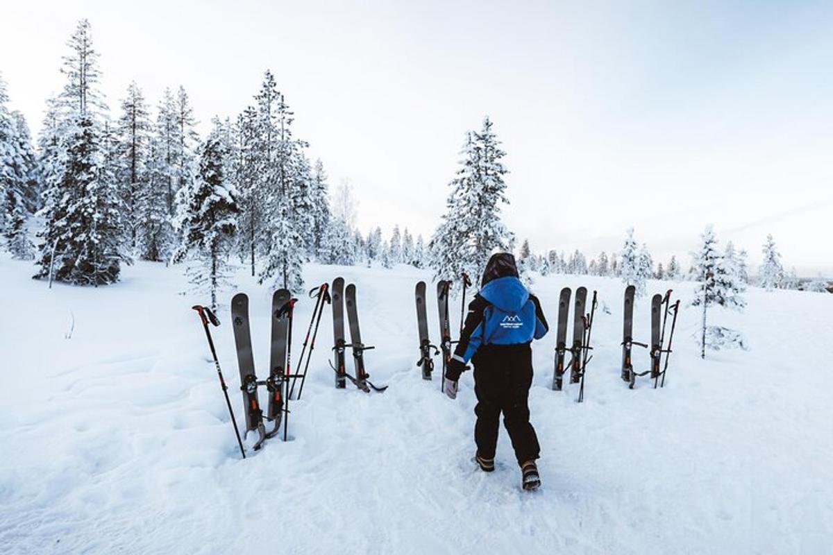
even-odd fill
[(657, 261), (707, 223), (760, 260), (833, 275), (831, 2), (13, 2), (0, 72), (37, 131), (77, 19), (111, 108), (182, 84), (201, 131), (270, 68), (296, 135), (362, 229), (426, 235), (467, 129), (507, 152), (506, 223), (533, 250), (595, 256), (636, 227)]

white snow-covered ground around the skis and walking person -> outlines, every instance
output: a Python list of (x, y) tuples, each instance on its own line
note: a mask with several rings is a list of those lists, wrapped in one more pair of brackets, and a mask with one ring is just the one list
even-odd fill
[[(583, 404), (576, 386), (548, 389), (554, 334), (535, 345), (543, 487), (524, 493), (503, 431), (496, 473), (470, 462), (471, 374), (456, 401), (420, 378), (413, 287), (427, 272), (307, 268), (309, 287), (357, 283), (362, 332), (377, 346), (368, 370), (390, 389), (332, 387), (327, 314), (292, 441), (246, 460), (190, 310), (205, 300), (178, 293), (179, 270), (140, 263), (97, 290), (47, 290), (30, 275), (0, 259), (2, 553), (831, 551), (833, 295), (750, 290), (744, 314), (716, 322), (743, 330), (751, 350), (705, 361), (692, 339), (700, 312), (682, 310), (666, 388), (643, 379), (631, 391), (618, 377), (621, 282), (538, 278), (551, 324), (564, 285), (597, 289), (610, 314), (596, 317)], [(245, 271), (237, 284), (263, 374), (271, 292)], [(685, 304), (694, 285), (675, 287)], [(242, 422), (231, 295), (213, 333)], [(298, 305), (296, 353), (312, 305)], [(648, 310), (636, 305), (637, 339)], [(635, 360), (647, 367), (644, 351)]]

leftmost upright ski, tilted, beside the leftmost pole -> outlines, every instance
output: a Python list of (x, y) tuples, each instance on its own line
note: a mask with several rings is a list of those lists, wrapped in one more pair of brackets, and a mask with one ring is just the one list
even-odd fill
[(249, 329), (249, 298), (245, 293), (237, 293), (232, 297), (232, 323), (237, 366), (240, 369), (240, 390), (246, 410), (246, 434), (257, 430), (257, 442), (252, 446), (257, 451), (266, 439), (266, 428), (263, 425), (260, 401), (257, 399), (257, 376), (252, 356), (252, 333)]

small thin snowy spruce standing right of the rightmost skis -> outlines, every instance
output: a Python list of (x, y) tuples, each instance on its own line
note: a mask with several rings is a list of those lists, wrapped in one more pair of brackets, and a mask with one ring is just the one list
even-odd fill
[(732, 310), (743, 310), (746, 300), (742, 293), (745, 290), (736, 260), (726, 260), (717, 249), (717, 238), (711, 225), (701, 235), (700, 250), (692, 253), (696, 278), (700, 281), (697, 295), (691, 301), (691, 306), (701, 306), (701, 358), (706, 358), (706, 347), (718, 350), (726, 346), (740, 345), (744, 347), (744, 339), (735, 330), (728, 330), (721, 326), (708, 325), (708, 309), (721, 306)]

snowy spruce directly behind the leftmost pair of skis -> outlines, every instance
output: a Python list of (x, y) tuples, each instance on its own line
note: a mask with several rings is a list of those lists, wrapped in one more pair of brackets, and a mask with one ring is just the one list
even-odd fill
[(227, 285), (227, 255), (237, 229), (237, 191), (228, 176), (228, 152), (222, 124), (214, 120), (212, 131), (200, 149), (199, 171), (187, 194), (182, 222), (183, 242), (175, 258), (188, 260), (187, 275), (195, 290), (211, 295), (217, 310), (217, 292)]

